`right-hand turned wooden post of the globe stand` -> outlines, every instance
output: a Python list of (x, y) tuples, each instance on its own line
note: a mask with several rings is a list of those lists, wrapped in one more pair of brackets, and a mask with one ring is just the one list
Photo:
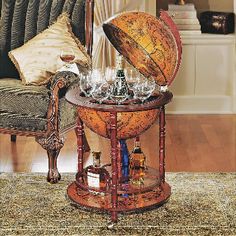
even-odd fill
[(159, 115), (159, 176), (161, 184), (165, 182), (165, 106)]

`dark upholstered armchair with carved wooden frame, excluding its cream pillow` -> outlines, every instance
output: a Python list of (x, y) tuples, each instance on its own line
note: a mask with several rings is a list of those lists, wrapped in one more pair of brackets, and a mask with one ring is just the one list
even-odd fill
[(0, 0), (0, 133), (34, 136), (47, 150), (47, 180), (61, 176), (57, 157), (63, 135), (76, 127), (77, 110), (65, 101), (66, 90), (78, 78), (71, 72), (56, 73), (47, 85), (23, 85), (8, 57), (46, 29), (62, 13), (71, 18), (73, 33), (92, 54), (93, 0)]

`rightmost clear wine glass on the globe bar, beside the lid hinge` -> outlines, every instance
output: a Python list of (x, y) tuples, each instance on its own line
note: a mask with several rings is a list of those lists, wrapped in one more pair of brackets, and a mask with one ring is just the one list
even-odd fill
[(153, 91), (155, 90), (155, 87), (156, 83), (153, 78), (140, 80), (139, 83), (137, 83), (133, 87), (134, 98), (139, 99), (142, 103), (144, 103), (144, 101), (152, 95)]

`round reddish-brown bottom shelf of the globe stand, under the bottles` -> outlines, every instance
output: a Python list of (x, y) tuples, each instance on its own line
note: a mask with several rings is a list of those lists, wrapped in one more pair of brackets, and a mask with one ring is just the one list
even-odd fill
[(85, 191), (76, 185), (76, 182), (68, 186), (67, 194), (74, 203), (87, 208), (97, 209), (101, 211), (139, 211), (165, 203), (171, 194), (171, 188), (166, 182), (162, 187), (154, 187), (152, 190), (140, 192), (130, 195), (118, 195), (117, 208), (112, 208), (111, 194), (94, 195)]

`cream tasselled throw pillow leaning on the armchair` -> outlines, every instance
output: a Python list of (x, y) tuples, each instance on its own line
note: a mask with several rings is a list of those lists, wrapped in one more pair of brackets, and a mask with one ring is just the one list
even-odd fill
[(65, 64), (60, 59), (63, 48), (73, 49), (74, 62), (90, 66), (91, 59), (73, 34), (67, 13), (61, 14), (49, 28), (8, 54), (23, 84), (42, 85)]

